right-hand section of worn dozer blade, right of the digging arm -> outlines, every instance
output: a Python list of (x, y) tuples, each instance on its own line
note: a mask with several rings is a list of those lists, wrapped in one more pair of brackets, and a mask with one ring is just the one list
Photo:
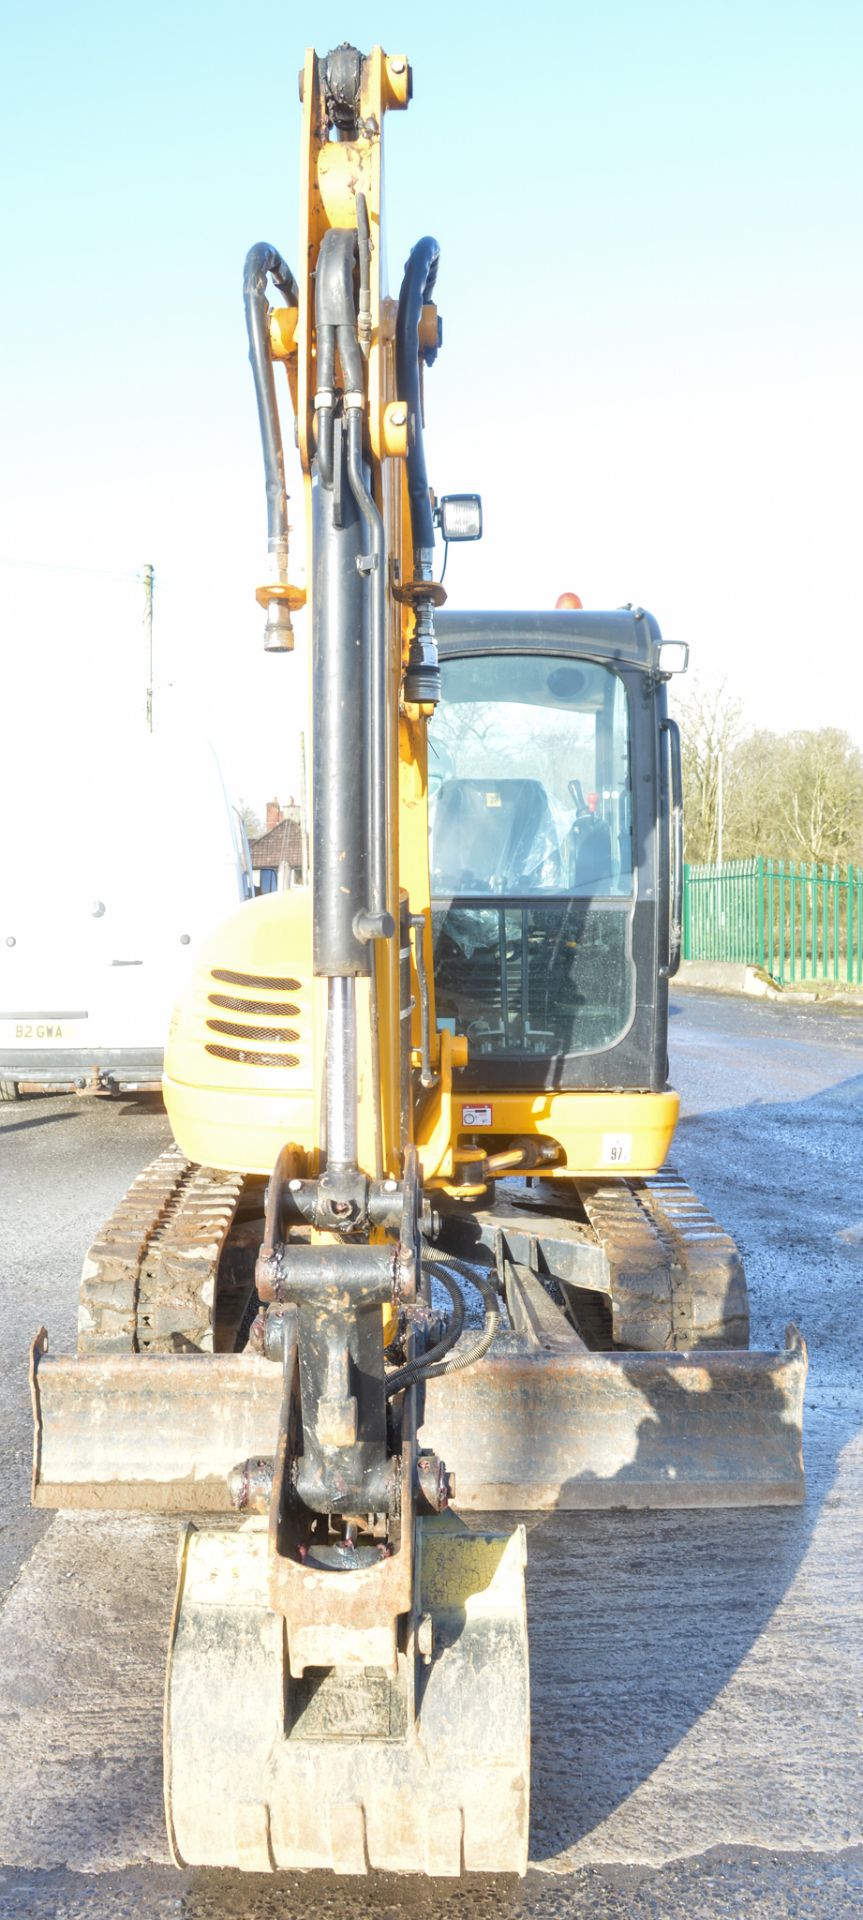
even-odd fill
[(784, 1354), (542, 1352), (504, 1334), (429, 1382), (419, 1444), (486, 1513), (757, 1507), (805, 1498), (805, 1344)]

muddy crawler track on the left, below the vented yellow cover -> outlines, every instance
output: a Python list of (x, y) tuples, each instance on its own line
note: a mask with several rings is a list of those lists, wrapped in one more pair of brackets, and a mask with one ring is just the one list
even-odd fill
[(165, 1148), (86, 1252), (79, 1354), (211, 1352), (213, 1298), (242, 1173)]

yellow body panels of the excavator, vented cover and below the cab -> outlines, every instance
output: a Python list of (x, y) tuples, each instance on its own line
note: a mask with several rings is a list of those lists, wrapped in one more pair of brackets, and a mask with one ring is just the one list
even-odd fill
[[(373, 1165), (369, 983), (359, 1000), (359, 1160)], [(511, 1140), (557, 1148), (550, 1177), (648, 1175), (661, 1167), (677, 1092), (457, 1091), (467, 1041), (438, 1035), (440, 1079), (415, 1127), (427, 1185), (471, 1187), (477, 1154)], [(165, 1048), (165, 1106), (177, 1144), (202, 1165), (269, 1175), (286, 1140), (317, 1171), (325, 983), (311, 973), (311, 895), (240, 906), (198, 952)], [(479, 1116), (479, 1119), (477, 1119)], [(400, 1171), (390, 1156), (386, 1171)]]

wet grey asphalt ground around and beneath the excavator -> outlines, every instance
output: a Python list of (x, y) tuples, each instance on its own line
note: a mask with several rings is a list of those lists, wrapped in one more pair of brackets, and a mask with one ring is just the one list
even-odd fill
[(31, 1515), (27, 1346), (167, 1139), (156, 1102), (0, 1112), (0, 1916), (419, 1920), (863, 1910), (863, 1020), (678, 995), (675, 1158), (744, 1252), (753, 1344), (809, 1340), (807, 1503), (530, 1526), (530, 1874), (177, 1874), (160, 1803), (175, 1526)]

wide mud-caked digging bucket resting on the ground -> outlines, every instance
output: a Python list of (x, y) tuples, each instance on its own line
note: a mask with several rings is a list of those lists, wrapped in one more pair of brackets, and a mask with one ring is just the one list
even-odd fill
[[(417, 1523), (398, 1670), (288, 1672), (265, 1524), (188, 1528), (165, 1684), (179, 1864), (411, 1874), (527, 1866), (525, 1530)], [(329, 1578), (342, 1578), (331, 1574)], [(348, 1576), (350, 1578), (350, 1576)]]

